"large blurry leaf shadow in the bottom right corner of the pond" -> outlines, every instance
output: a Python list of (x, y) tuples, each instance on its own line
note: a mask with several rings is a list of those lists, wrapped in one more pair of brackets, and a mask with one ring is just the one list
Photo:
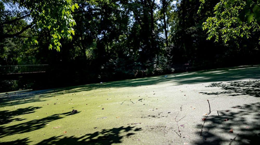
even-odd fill
[[(259, 144), (260, 142), (260, 103), (234, 106), (229, 112), (221, 111), (219, 116), (209, 115), (203, 126), (202, 136), (195, 144)], [(226, 108), (230, 109), (230, 108)], [(251, 119), (248, 115), (253, 116)], [(229, 119), (228, 121), (224, 121)], [(201, 124), (198, 124), (200, 134)], [(234, 127), (239, 127), (239, 130)], [(233, 133), (229, 130), (233, 128)], [(220, 129), (220, 130), (217, 130)], [(216, 131), (217, 130), (217, 131)], [(231, 135), (231, 138), (223, 136)]]

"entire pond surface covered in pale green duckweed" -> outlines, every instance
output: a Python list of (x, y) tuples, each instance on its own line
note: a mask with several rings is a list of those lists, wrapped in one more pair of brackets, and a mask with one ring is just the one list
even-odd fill
[[(2, 92), (0, 144), (250, 144), (260, 136), (259, 72), (242, 66)], [(238, 118), (240, 107), (248, 120)]]

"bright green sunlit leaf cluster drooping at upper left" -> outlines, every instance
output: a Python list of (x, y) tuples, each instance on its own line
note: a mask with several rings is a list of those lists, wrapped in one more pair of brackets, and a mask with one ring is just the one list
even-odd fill
[(15, 0), (20, 8), (30, 10), (31, 24), (31, 39), (25, 39), (25, 43), (38, 44), (36, 36), (40, 31), (48, 29), (50, 31), (49, 49), (60, 51), (61, 39), (72, 40), (74, 35), (73, 26), (76, 25), (71, 12), (79, 8), (78, 4), (73, 4), (72, 0)]

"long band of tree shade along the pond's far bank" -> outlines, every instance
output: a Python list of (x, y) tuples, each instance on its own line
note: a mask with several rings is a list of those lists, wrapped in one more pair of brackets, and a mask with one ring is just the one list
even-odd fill
[(242, 66), (194, 71), (178, 74), (169, 74), (166, 75), (166, 77), (165, 75), (144, 77), (114, 82), (70, 86), (56, 89), (28, 91), (22, 93), (9, 93), (8, 95), (2, 93), (0, 94), (0, 106), (12, 106), (14, 104), (18, 105), (28, 102), (44, 101), (44, 98), (47, 97), (59, 96), (68, 93), (78, 93), (81, 91), (91, 91), (100, 88), (109, 89), (122, 87), (140, 87), (142, 85), (155, 85), (159, 83), (169, 83), (169, 85), (196, 84), (213, 81), (236, 81), (245, 78), (260, 79), (260, 66)]

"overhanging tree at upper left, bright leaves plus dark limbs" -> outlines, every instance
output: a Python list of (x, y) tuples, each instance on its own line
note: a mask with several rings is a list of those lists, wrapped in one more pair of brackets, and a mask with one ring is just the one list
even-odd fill
[[(50, 32), (49, 49), (60, 51), (61, 39), (72, 40), (76, 23), (71, 12), (79, 7), (72, 0), (5, 0), (0, 7), (0, 27), (6, 28), (0, 30), (0, 40), (23, 37), (25, 43), (38, 44), (37, 36), (45, 29)], [(26, 30), (30, 32), (25, 34)]]

